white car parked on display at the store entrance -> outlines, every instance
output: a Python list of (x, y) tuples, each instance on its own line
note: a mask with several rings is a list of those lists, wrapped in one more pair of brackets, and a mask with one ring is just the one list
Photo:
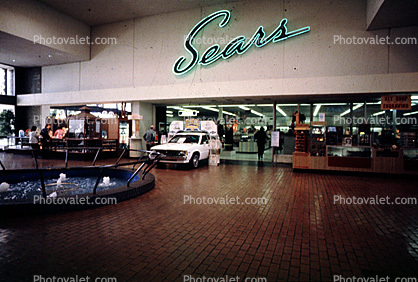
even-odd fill
[(209, 134), (203, 131), (180, 131), (166, 144), (151, 148), (164, 155), (161, 163), (190, 164), (197, 168), (209, 158)]

